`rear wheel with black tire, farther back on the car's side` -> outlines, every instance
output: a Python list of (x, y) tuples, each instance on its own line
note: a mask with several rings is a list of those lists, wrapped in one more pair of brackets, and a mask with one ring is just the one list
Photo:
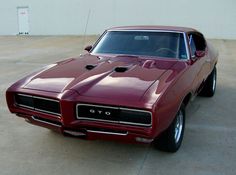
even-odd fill
[(216, 91), (216, 79), (217, 79), (217, 70), (216, 67), (214, 67), (211, 74), (207, 77), (206, 82), (199, 95), (204, 97), (214, 96)]

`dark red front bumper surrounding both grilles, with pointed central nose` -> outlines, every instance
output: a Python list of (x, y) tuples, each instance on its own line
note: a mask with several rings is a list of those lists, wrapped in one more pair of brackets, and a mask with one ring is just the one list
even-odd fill
[[(22, 92), (21, 92), (22, 93)], [(80, 120), (76, 117), (76, 105), (78, 101), (83, 103), (89, 103), (93, 101), (95, 104), (111, 104), (115, 105), (115, 102), (91, 100), (89, 98), (78, 97), (73, 95), (74, 92), (70, 92), (66, 96), (58, 98), (58, 94), (45, 94), (45, 97), (60, 100), (61, 116), (56, 116), (49, 113), (43, 113), (41, 111), (35, 111), (31, 109), (25, 109), (17, 106), (14, 103), (15, 92), (7, 92), (8, 107), (12, 113), (15, 113), (19, 117), (23, 117), (27, 122), (55, 130), (65, 135), (72, 135), (84, 139), (105, 139), (105, 140), (118, 140), (124, 142), (142, 142), (150, 143), (156, 137), (156, 123), (153, 122), (149, 127), (135, 126), (121, 123), (109, 123), (106, 121), (90, 121)], [(32, 94), (32, 92), (31, 92)], [(38, 93), (34, 91), (34, 94)], [(42, 94), (41, 94), (42, 95)], [(113, 104), (112, 104), (113, 103)], [(132, 104), (133, 105), (133, 104)], [(124, 104), (124, 106), (128, 106)], [(133, 105), (133, 107), (141, 108), (141, 106)], [(151, 111), (150, 111), (151, 113)], [(153, 119), (152, 119), (153, 120)]]

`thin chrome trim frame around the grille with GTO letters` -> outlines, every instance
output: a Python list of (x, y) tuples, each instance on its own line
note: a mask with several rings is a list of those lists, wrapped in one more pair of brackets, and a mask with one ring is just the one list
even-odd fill
[[(79, 117), (79, 115), (78, 115), (78, 106), (94, 106), (94, 107), (102, 107), (102, 108), (110, 108), (110, 109), (120, 109), (120, 110), (127, 110), (127, 111), (145, 112), (145, 113), (150, 114), (151, 123), (150, 124), (142, 124), (142, 123), (133, 123), (133, 122), (125, 122), (125, 121), (114, 121), (114, 120), (103, 120), (103, 119)], [(79, 104), (76, 105), (76, 118), (81, 119), (81, 120), (90, 120), (90, 121), (100, 121), (100, 122), (108, 122), (108, 123), (115, 123), (115, 124), (128, 124), (128, 125), (134, 125), (134, 126), (152, 127), (152, 113), (150, 111), (141, 110), (141, 109), (129, 109), (129, 108), (123, 108), (123, 107), (111, 107), (111, 106), (92, 105), (92, 104), (90, 105), (90, 104), (79, 103)]]

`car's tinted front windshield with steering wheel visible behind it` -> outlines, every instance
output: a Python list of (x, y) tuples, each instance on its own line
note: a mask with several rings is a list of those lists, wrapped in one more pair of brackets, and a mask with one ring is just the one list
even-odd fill
[(159, 31), (108, 31), (92, 53), (187, 58), (182, 33)]

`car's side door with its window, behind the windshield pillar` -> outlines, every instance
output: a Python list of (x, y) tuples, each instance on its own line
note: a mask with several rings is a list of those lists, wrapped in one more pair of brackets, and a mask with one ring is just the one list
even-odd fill
[[(206, 80), (209, 71), (208, 51), (206, 41), (202, 34), (193, 32), (188, 34), (190, 56), (191, 56), (191, 69), (194, 73), (193, 90), (198, 93), (202, 88), (203, 82)], [(201, 56), (197, 52), (201, 51)]]

